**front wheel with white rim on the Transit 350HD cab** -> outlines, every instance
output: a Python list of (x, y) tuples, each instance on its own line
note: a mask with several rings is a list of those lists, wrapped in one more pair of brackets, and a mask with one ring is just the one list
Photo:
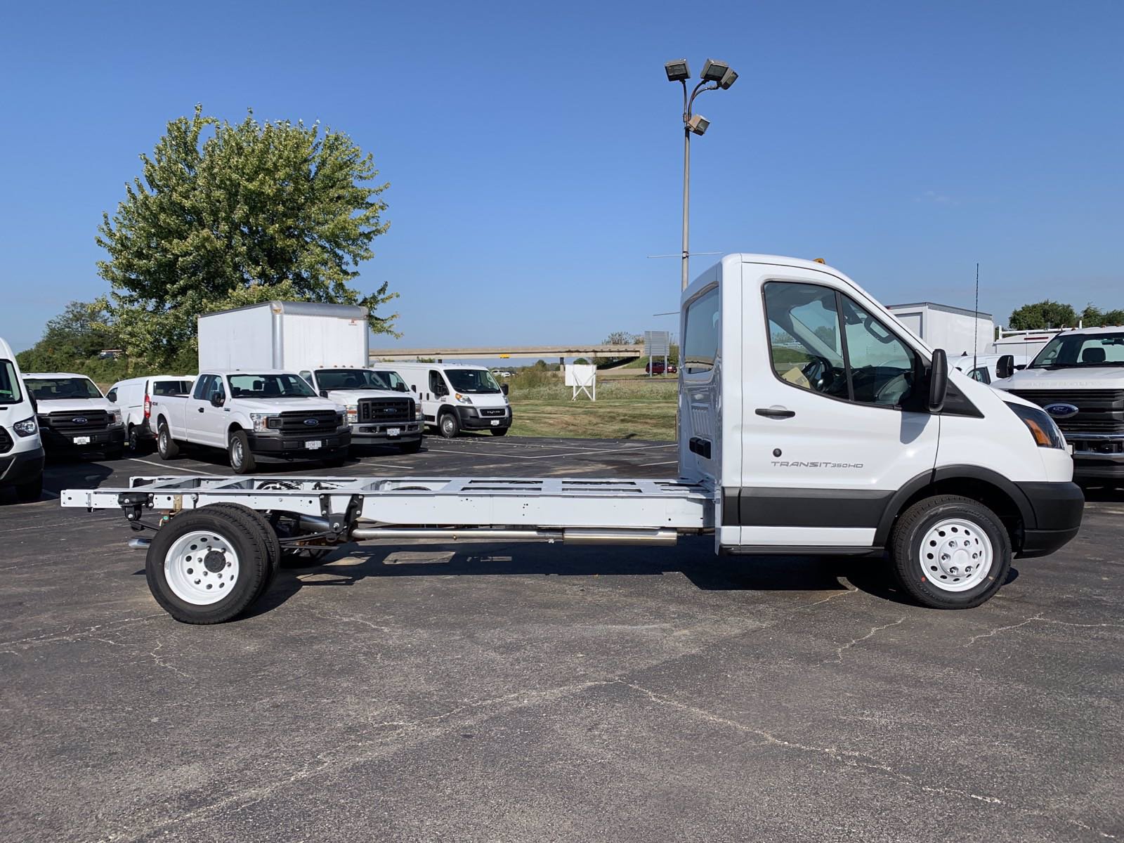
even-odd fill
[(890, 562), (898, 582), (933, 609), (970, 609), (987, 602), (1007, 580), (1010, 556), (1010, 538), (998, 516), (978, 500), (958, 495), (917, 501), (890, 533)]

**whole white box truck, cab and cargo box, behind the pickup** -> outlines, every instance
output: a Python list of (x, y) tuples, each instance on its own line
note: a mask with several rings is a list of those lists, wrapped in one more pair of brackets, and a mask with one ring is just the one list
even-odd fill
[(199, 371), (299, 372), (323, 398), (347, 410), (353, 444), (417, 451), (422, 424), (410, 396), (362, 371), (370, 362), (366, 316), (365, 307), (309, 301), (206, 314), (199, 317)]

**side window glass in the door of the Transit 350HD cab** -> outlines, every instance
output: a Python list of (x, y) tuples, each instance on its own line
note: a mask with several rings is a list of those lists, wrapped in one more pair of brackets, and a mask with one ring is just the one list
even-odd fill
[(770, 281), (764, 300), (780, 380), (882, 407), (900, 407), (910, 395), (916, 353), (849, 297), (819, 284)]

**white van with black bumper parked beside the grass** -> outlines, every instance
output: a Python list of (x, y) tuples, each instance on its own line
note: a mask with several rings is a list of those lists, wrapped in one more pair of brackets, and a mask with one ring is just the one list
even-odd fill
[(461, 430), (489, 430), (504, 436), (511, 427), (507, 384), (500, 386), (486, 366), (457, 363), (396, 363), (422, 405), (425, 424), (446, 439)]

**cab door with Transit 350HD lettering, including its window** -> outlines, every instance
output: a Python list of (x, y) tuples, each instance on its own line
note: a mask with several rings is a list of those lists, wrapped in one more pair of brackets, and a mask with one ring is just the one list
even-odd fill
[(834, 281), (763, 275), (746, 312), (767, 347), (746, 345), (743, 545), (869, 546), (894, 492), (936, 461), (917, 351)]

